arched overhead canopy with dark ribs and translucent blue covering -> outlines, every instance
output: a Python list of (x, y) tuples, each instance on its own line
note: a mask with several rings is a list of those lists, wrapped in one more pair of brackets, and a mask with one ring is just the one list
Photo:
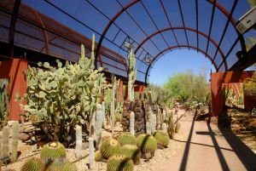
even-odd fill
[(244, 59), (236, 53), (246, 56), (245, 38), (256, 35), (236, 31), (249, 9), (246, 0), (2, 0), (0, 41), (10, 56), (14, 49), (31, 50), (42, 54), (30, 57), (35, 62), (51, 56), (77, 61), (81, 43), (90, 56), (88, 37), (95, 33), (95, 65), (120, 77), (126, 77), (127, 41), (135, 49), (137, 81), (148, 83), (157, 59), (174, 49), (204, 54), (215, 71), (239, 70)]

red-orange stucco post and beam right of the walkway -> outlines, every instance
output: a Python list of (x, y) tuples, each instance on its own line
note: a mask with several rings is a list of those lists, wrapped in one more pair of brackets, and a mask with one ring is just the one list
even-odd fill
[[(212, 116), (218, 116), (223, 112), (224, 100), (222, 96), (223, 83), (243, 83), (248, 77), (253, 77), (255, 71), (226, 71), (215, 72), (211, 75), (212, 91)], [(254, 97), (244, 94), (244, 106), (251, 110), (256, 105)]]

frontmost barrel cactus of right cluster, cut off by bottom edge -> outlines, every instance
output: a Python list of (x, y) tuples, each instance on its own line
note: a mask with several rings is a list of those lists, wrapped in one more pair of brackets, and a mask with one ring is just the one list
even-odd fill
[(108, 159), (107, 171), (132, 171), (133, 162), (122, 154), (114, 155)]

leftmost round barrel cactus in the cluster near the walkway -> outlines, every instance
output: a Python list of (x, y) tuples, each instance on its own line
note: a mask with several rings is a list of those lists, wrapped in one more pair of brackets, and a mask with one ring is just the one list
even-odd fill
[(102, 157), (108, 159), (119, 152), (120, 148), (119, 141), (114, 139), (107, 139), (102, 142), (101, 153)]

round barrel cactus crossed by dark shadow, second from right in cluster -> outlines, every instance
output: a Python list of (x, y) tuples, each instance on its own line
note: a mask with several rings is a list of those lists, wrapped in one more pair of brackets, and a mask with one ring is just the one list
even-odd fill
[(157, 148), (157, 141), (154, 136), (149, 134), (140, 134), (137, 137), (137, 146), (143, 153), (154, 152)]

